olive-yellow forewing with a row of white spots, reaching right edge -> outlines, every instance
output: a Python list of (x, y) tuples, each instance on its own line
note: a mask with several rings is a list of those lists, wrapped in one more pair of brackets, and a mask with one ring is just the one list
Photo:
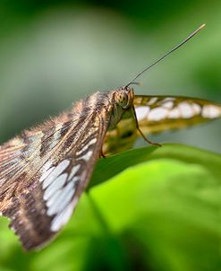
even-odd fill
[(134, 98), (139, 127), (145, 134), (192, 126), (221, 117), (221, 106), (210, 101), (175, 96)]

